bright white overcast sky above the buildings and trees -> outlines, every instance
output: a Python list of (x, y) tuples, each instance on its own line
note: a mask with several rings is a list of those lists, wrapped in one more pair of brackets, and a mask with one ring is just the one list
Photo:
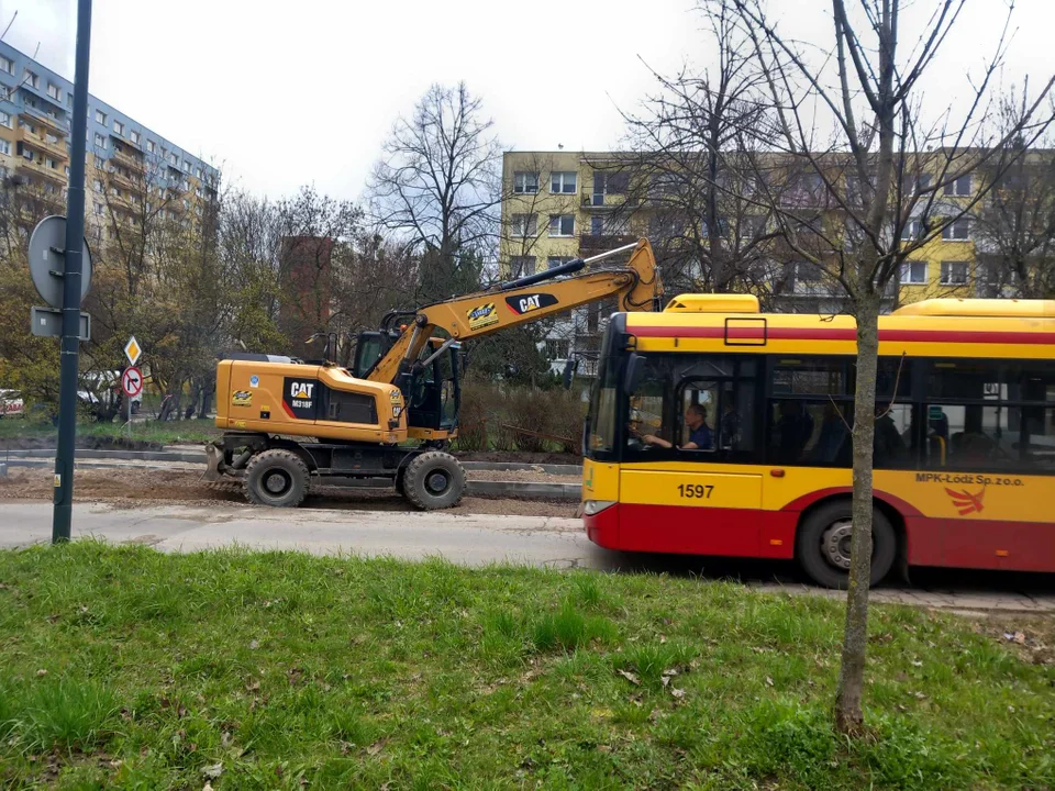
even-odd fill
[[(692, 0), (96, 0), (90, 90), (224, 170), (279, 197), (302, 183), (357, 198), (392, 121), (432, 82), (466, 80), (507, 147), (607, 149), (618, 108), (660, 73), (710, 53)], [(1004, 82), (1055, 69), (1055, 0), (1018, 0)], [(829, 0), (770, 0), (781, 24), (831, 37)], [(76, 0), (0, 0), (5, 41), (73, 78)], [(932, 8), (915, 0), (909, 13)], [(926, 85), (966, 88), (1004, 0), (970, 0)], [(933, 99), (932, 99), (933, 98)]]

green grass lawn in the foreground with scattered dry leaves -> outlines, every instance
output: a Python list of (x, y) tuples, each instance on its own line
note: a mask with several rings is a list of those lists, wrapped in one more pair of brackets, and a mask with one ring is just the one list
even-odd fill
[(842, 620), (655, 576), (4, 552), (0, 787), (1055, 787), (1055, 667), (955, 616), (874, 609), (871, 732), (837, 737)]

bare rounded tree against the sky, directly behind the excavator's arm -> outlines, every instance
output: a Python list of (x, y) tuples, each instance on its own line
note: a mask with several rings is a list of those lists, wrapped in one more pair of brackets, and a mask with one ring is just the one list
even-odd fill
[(370, 211), (427, 261), (426, 300), (448, 293), (464, 253), (493, 257), (501, 149), (492, 126), (464, 82), (434, 85), (410, 119), (396, 121), (374, 168)]

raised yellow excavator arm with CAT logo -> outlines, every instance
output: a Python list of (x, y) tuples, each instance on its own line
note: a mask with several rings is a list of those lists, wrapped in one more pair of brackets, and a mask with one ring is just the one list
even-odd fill
[[(584, 271), (591, 264), (633, 250), (625, 266)], [(568, 275), (562, 279), (555, 279)], [(487, 291), (426, 305), (413, 315), (388, 352), (367, 376), (371, 381), (395, 382), (422, 354), (436, 330), (449, 338), (444, 346), (479, 338), (501, 330), (564, 313), (615, 297), (621, 311), (658, 310), (663, 283), (648, 239), (598, 256), (511, 280)], [(443, 347), (435, 354), (440, 354)]]

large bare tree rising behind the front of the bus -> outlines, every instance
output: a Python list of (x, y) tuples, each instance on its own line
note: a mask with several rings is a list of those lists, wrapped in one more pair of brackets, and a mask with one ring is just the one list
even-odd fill
[(769, 212), (752, 201), (753, 175), (744, 167), (767, 107), (759, 102), (764, 73), (730, 3), (702, 7), (713, 68), (674, 77), (653, 73), (658, 92), (637, 113), (624, 113), (629, 151), (608, 170), (606, 187), (625, 200), (610, 231), (625, 219), (647, 218), (648, 236), (664, 278), (680, 289), (759, 291), (768, 285)]

